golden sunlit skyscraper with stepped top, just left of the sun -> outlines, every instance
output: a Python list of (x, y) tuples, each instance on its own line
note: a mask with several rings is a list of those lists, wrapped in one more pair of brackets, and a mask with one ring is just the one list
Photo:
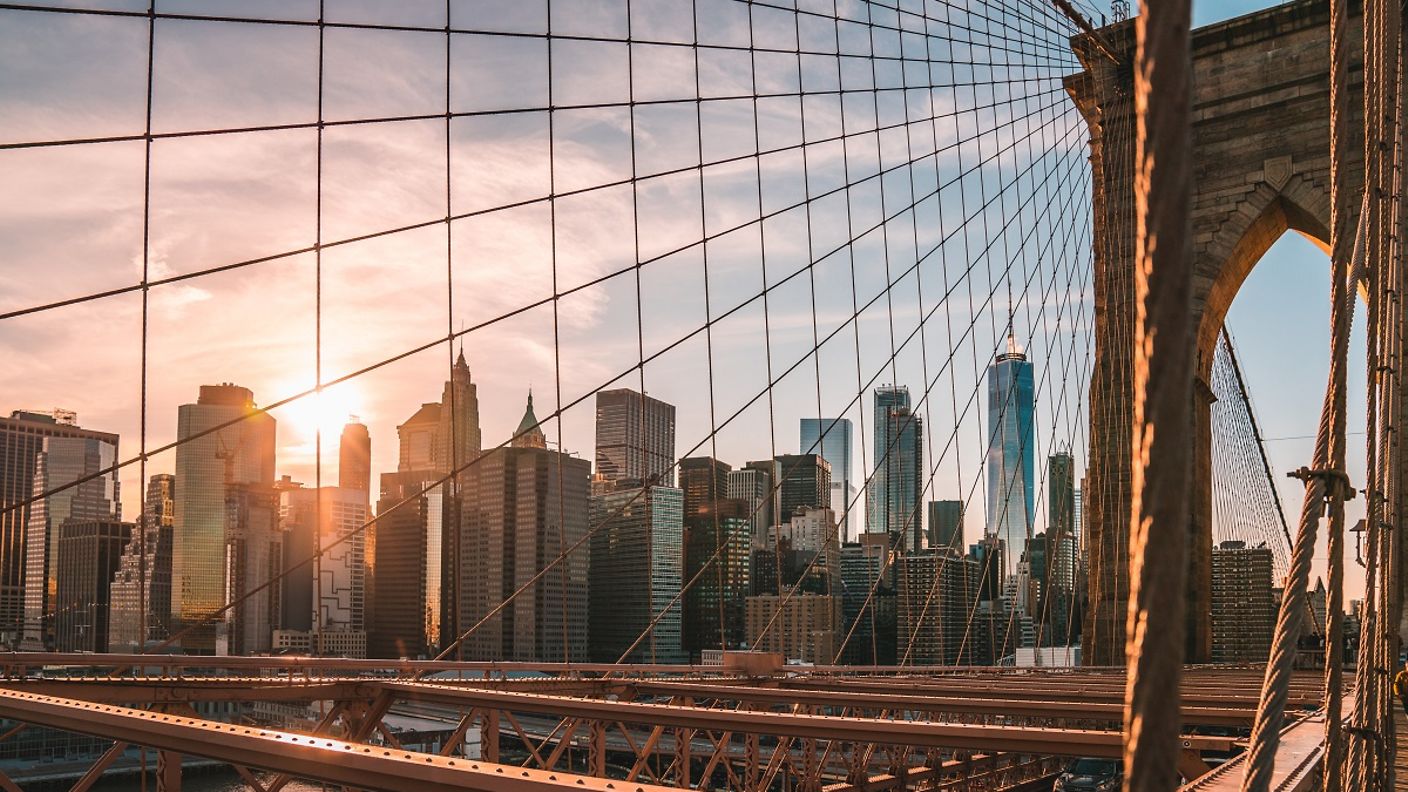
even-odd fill
[[(196, 437), (217, 426), (235, 421), (231, 426)], [(260, 493), (248, 488), (263, 488), (265, 497), (273, 499), (273, 517), (277, 514), (277, 499), (272, 496), (275, 468), (273, 417), (255, 412), (253, 393), (238, 385), (201, 385), (200, 399), (194, 404), (182, 404), (177, 410), (176, 437), (176, 514), (172, 528), (172, 620), (175, 629), (201, 621), (220, 610), (234, 590), (248, 590), (256, 586), (251, 581), (235, 581), (227, 588), (230, 569), (227, 550), (234, 536), (242, 533), (239, 541), (262, 541), (251, 533), (268, 530), (273, 537), (276, 524), (260, 528), (262, 514), (256, 514)], [(239, 499), (232, 499), (234, 488), (246, 486)], [(268, 506), (268, 505), (263, 505)], [(252, 507), (255, 523), (244, 527), (238, 521), (239, 509)], [(259, 554), (249, 545), (251, 552)], [(265, 554), (268, 550), (263, 551)], [(258, 575), (258, 564), (246, 567)], [(245, 619), (246, 626), (251, 620)], [(251, 627), (252, 629), (252, 627)], [(239, 644), (242, 641), (237, 641)], [(215, 650), (215, 630), (211, 624), (187, 633), (182, 638), (186, 651), (206, 654)]]

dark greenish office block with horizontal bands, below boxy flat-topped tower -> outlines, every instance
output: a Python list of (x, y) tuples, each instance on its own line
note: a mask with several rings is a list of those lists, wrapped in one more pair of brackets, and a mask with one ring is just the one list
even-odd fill
[(591, 499), (591, 660), (683, 662), (680, 609), (672, 602), (684, 574), (684, 493), (617, 485)]

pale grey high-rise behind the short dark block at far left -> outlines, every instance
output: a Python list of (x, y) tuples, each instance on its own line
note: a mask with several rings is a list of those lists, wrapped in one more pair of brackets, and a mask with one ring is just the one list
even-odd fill
[[(58, 420), (52, 426), (58, 426)], [(34, 478), (25, 496), (58, 489), (117, 462), (115, 434), (46, 434), (39, 437), (35, 448)], [(24, 648), (54, 645), (58, 550), (63, 524), (69, 520), (111, 521), (120, 516), (117, 471), (30, 505), (24, 543)]]

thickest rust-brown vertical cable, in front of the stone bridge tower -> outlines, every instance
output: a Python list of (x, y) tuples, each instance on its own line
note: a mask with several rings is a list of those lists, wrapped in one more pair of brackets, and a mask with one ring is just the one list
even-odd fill
[[(1177, 778), (1193, 413), (1188, 0), (1135, 25), (1135, 349), (1125, 789)], [(1159, 96), (1159, 100), (1152, 100)]]

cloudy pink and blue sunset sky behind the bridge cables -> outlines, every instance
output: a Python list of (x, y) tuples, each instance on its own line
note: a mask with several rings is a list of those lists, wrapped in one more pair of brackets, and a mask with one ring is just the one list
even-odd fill
[[(145, 10), (142, 1), (83, 6)], [(831, 0), (822, 6), (829, 13)], [(1197, 21), (1262, 6), (1202, 1)], [(158, 7), (315, 20), (318, 4), (190, 0)], [(701, 42), (749, 45), (746, 4), (700, 0), (697, 7)], [(841, 7), (843, 17), (865, 20), (862, 4)], [(1060, 47), (1063, 35), (1018, 24), (1004, 32), (1005, 45), (1021, 52), (998, 54), (949, 41), (970, 32), (959, 37), (956, 28), (945, 32), (936, 24), (928, 42), (908, 35), (901, 44), (884, 31), (872, 41), (859, 23), (838, 27), (805, 14), (794, 21), (791, 13), (755, 7), (756, 47), (796, 48), (800, 32), (804, 49), (835, 51), (839, 38), (843, 55), (874, 47), (881, 55), (903, 55), (903, 68), (898, 59), (843, 56), (838, 63), (831, 55), (808, 55), (798, 69), (791, 54), (759, 52), (750, 61), (746, 51), (701, 48), (696, 70), (693, 48), (669, 45), (693, 41), (690, 3), (634, 0), (632, 35), (658, 44), (636, 44), (628, 62), (625, 44), (589, 41), (624, 38), (624, 1), (558, 0), (552, 34), (583, 39), (555, 39), (549, 72), (545, 38), (504, 35), (546, 31), (545, 3), (456, 0), (452, 8), (456, 28), (484, 32), (456, 34), (449, 52), (451, 106), (477, 113), (452, 123), (451, 211), (480, 213), (452, 224), (451, 266), (441, 221), (445, 120), (328, 127), (322, 241), (425, 225), (327, 248), (321, 279), (314, 255), (304, 252), (153, 287), (148, 448), (175, 440), (176, 407), (193, 402), (203, 383), (245, 385), (268, 404), (311, 388), (318, 365), (327, 382), (428, 345), (329, 388), (318, 403), (273, 412), (282, 474), (315, 481), (314, 431), (321, 426), (321, 478), (335, 482), (337, 433), (349, 413), (370, 427), (373, 471), (394, 469), (396, 424), (421, 402), (439, 399), (459, 345), (452, 348), (445, 337), (463, 327), (474, 328), (463, 348), (479, 385), (484, 444), (507, 440), (531, 388), (539, 417), (580, 399), (562, 421), (545, 421), (543, 428), (551, 443), (560, 437), (565, 450), (591, 458), (590, 395), (604, 386), (639, 389), (642, 375), (632, 366), (642, 352), (650, 357), (707, 317), (746, 303), (708, 334), (645, 366), (643, 388), (679, 407), (680, 455), (739, 410), (700, 454), (741, 465), (796, 451), (798, 419), (845, 414), (856, 424), (857, 455), (866, 435), (866, 459), (852, 471), (859, 483), (873, 452), (869, 386), (900, 382), (918, 400), (928, 379), (934, 388), (919, 412), (926, 420), (925, 462), (935, 475), (926, 496), (969, 499), (967, 531), (976, 538), (987, 416), (986, 397), (974, 393), (984, 366), (1005, 347), (1011, 318), (1036, 364), (1038, 459), (1069, 445), (1084, 464), (1088, 168), (1084, 123), (1060, 89), (1060, 76), (1074, 70)], [(974, 4), (972, 13), (953, 11), (952, 23), (980, 28), (976, 17), (994, 11)], [(445, 24), (441, 1), (329, 1), (327, 18)], [(445, 111), (444, 32), (334, 27), (324, 47), (325, 120)], [(928, 69), (925, 56), (932, 61)], [(949, 65), (1004, 58), (1010, 66)], [(153, 132), (307, 124), (317, 120), (318, 31), (159, 20), (153, 75)], [(846, 94), (843, 103), (835, 94), (810, 96), (801, 106), (796, 97), (762, 99), (756, 113), (746, 99), (796, 92), (798, 85), (826, 92), (931, 82), (959, 87), (910, 92), (908, 103), (898, 92), (867, 90)], [(558, 107), (551, 114), (549, 87)], [(0, 142), (141, 134), (145, 92), (145, 18), (6, 11)], [(701, 103), (697, 128), (696, 96), (741, 99)], [(634, 114), (614, 104), (631, 97), (648, 104)], [(931, 123), (931, 116), (939, 120)], [(877, 123), (894, 128), (856, 134)], [(645, 178), (635, 190), (618, 183), (632, 175), (632, 128), (636, 175), (686, 171)], [(846, 144), (817, 142), (842, 130), (852, 135)], [(786, 148), (803, 135), (805, 168), (798, 149), (752, 156), (756, 147)], [(934, 151), (935, 142), (942, 149), (936, 169), (934, 156), (903, 166)], [(701, 186), (701, 155), (705, 163), (739, 159), (705, 166)], [(818, 196), (845, 185), (848, 168), (855, 183), (877, 163), (890, 171), (855, 186), (849, 200), (836, 192), (803, 203), (808, 189)], [(314, 128), (158, 140), (149, 278), (313, 247), (317, 165)], [(939, 185), (946, 187), (931, 194)], [(584, 192), (552, 204), (543, 200), (573, 190)], [(759, 200), (769, 214), (762, 224)], [(911, 203), (915, 209), (903, 211)], [(883, 224), (881, 206), (894, 216)], [(142, 207), (141, 141), (0, 151), (0, 313), (138, 283)], [(786, 207), (793, 209), (780, 211)], [(670, 252), (704, 235), (707, 287), (701, 245)], [(900, 278), (931, 249), (917, 271)], [(646, 262), (639, 280), (636, 261)], [(887, 266), (897, 279), (888, 299)], [(1229, 316), (1267, 437), (1314, 431), (1325, 382), (1326, 278), (1325, 256), (1288, 237), (1252, 273)], [(776, 286), (766, 310), (763, 300), (752, 299), (765, 282)], [(555, 290), (589, 283), (562, 296), (553, 310)], [(848, 323), (853, 293), (862, 306), (879, 297), (855, 328)], [(121, 455), (135, 455), (141, 306), (139, 292), (132, 292), (0, 321), (0, 410), (72, 409), (82, 426), (120, 433)], [(893, 345), (917, 327), (922, 333), (890, 365)], [(818, 355), (808, 355), (814, 338), (834, 331)], [(781, 378), (770, 399), (769, 368)], [(1350, 393), (1360, 396), (1352, 427), (1363, 423), (1362, 368), (1350, 368)], [(860, 400), (857, 375), (866, 385)], [(1284, 471), (1307, 464), (1311, 441), (1274, 440), (1269, 448), (1273, 466)], [(172, 466), (168, 452), (152, 458), (148, 472)], [(1362, 469), (1352, 468), (1352, 475), (1362, 481)], [(135, 465), (124, 471), (122, 486), (124, 512), (132, 517), (139, 500)], [(1295, 482), (1283, 483), (1283, 499), (1298, 510)], [(857, 514), (852, 524), (859, 521)]]

